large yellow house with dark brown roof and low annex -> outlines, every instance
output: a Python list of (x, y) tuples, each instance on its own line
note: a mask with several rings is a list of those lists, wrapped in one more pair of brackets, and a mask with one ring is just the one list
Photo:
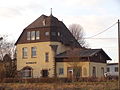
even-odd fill
[(52, 14), (41, 15), (28, 25), (16, 47), (17, 70), (22, 77), (62, 78), (75, 73), (78, 77), (101, 77), (106, 72), (106, 60), (111, 60), (102, 49), (82, 48)]

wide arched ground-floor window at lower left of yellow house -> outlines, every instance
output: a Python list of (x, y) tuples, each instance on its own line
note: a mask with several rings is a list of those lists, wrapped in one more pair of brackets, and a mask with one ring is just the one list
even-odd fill
[(24, 67), (22, 69), (22, 77), (32, 77), (33, 69), (31, 67)]

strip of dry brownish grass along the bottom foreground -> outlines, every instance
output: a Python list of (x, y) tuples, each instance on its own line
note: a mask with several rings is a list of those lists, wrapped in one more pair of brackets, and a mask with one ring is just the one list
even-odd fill
[(73, 83), (0, 83), (0, 90), (119, 90), (117, 81)]

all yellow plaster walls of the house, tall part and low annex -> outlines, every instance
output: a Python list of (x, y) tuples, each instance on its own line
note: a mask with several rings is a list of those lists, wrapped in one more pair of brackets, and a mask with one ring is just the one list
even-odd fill
[[(42, 70), (48, 70), (49, 77), (54, 76), (54, 61), (55, 53), (51, 48), (51, 45), (58, 45), (57, 54), (69, 50), (69, 47), (62, 45), (59, 42), (38, 42), (38, 43), (27, 43), (27, 44), (17, 44), (17, 70), (20, 71), (24, 67), (29, 66), (33, 69), (33, 77), (41, 77)], [(27, 47), (28, 55), (27, 58), (22, 57), (22, 48)], [(31, 57), (31, 47), (37, 48), (37, 56)], [(45, 53), (49, 53), (49, 62), (45, 62)], [(74, 63), (75, 64), (75, 63)], [(57, 62), (56, 63), (56, 73), (57, 77), (67, 77), (68, 67), (72, 67), (72, 62)], [(81, 77), (92, 77), (93, 67), (96, 68), (96, 77), (101, 77), (104, 75), (101, 68), (104, 68), (106, 72), (105, 63), (95, 63), (95, 62), (77, 62), (77, 65), (81, 67)], [(63, 68), (64, 73), (59, 75), (59, 68)]]

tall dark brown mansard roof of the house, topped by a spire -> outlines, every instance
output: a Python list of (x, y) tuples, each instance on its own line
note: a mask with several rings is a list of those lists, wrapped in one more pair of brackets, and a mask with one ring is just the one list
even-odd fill
[[(41, 35), (41, 40), (37, 41), (27, 41), (27, 31), (32, 30), (39, 30), (40, 33), (45, 33), (45, 31), (49, 32), (60, 32), (61, 36), (59, 37), (52, 37), (50, 36), (49, 39), (44, 36), (44, 34)], [(44, 41), (58, 41), (65, 45), (73, 45), (75, 47), (81, 47), (78, 41), (74, 38), (74, 36), (71, 34), (71, 32), (68, 30), (68, 28), (65, 26), (65, 24), (62, 21), (59, 21), (56, 17), (53, 15), (46, 16), (41, 15), (39, 18), (37, 18), (34, 22), (32, 22), (30, 25), (28, 25), (18, 38), (17, 44), (24, 44), (24, 43), (35, 43), (35, 42), (44, 42)]]

